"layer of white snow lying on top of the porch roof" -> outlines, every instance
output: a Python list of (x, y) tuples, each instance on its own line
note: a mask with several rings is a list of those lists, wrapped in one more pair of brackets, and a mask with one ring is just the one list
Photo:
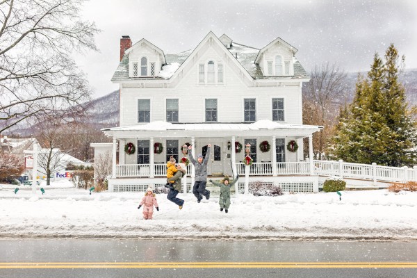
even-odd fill
[[(123, 126), (101, 129), (107, 135), (118, 133), (117, 131), (261, 131), (261, 130), (306, 130), (316, 132), (322, 129), (322, 126), (310, 126), (303, 124), (282, 124), (270, 120), (259, 120), (252, 124), (232, 124), (232, 123), (190, 123), (190, 124), (172, 124), (170, 122), (149, 122), (149, 124), (140, 124), (136, 126)], [(112, 132), (113, 131), (113, 132)], [(208, 134), (210, 135), (210, 134)], [(215, 133), (218, 136), (218, 133)]]

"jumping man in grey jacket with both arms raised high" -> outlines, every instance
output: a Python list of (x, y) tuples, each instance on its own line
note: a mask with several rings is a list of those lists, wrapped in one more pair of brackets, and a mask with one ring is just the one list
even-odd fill
[(206, 157), (204, 158), (202, 154), (197, 156), (197, 161), (193, 158), (192, 146), (188, 146), (188, 158), (190, 158), (190, 162), (193, 163), (195, 167), (195, 183), (193, 186), (193, 194), (197, 198), (197, 203), (201, 202), (203, 196), (206, 199), (210, 198), (210, 191), (206, 190), (206, 183), (207, 183), (207, 163), (208, 159), (210, 158), (210, 149), (211, 145), (207, 145), (207, 153)]

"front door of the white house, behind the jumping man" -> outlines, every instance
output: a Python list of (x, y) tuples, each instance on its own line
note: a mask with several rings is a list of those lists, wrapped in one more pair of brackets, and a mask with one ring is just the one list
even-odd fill
[(207, 164), (207, 174), (210, 176), (221, 176), (223, 174), (223, 142), (220, 140), (204, 140), (200, 145), (198, 154), (206, 157), (207, 145), (211, 144), (211, 154)]

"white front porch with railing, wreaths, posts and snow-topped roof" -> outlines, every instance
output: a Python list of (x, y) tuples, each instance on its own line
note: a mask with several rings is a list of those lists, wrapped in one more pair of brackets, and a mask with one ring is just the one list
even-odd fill
[[(253, 181), (271, 182), (290, 191), (318, 191), (318, 178), (313, 174), (313, 161), (304, 160), (303, 138), (309, 138), (309, 157), (313, 156), (312, 133), (320, 126), (280, 124), (262, 120), (252, 124), (172, 124), (151, 122), (138, 126), (103, 129), (107, 136), (113, 137), (113, 171), (109, 180), (109, 190), (146, 190), (147, 186), (158, 187), (166, 182), (166, 161), (172, 155), (181, 162), (188, 158), (186, 143), (192, 146), (193, 156), (206, 155), (211, 145), (208, 162), (208, 176), (223, 177), (240, 175), (238, 186), (247, 192)], [(261, 142), (268, 142), (268, 150), (261, 149)], [(296, 142), (297, 150), (291, 152), (288, 142)], [(127, 144), (136, 146), (132, 154), (126, 154)], [(250, 166), (242, 161), (245, 158), (245, 145), (254, 159)], [(117, 145), (119, 147), (118, 163)], [(163, 145), (163, 151), (156, 149)], [(241, 146), (240, 149), (238, 146)], [(184, 192), (188, 192), (195, 181), (195, 169), (190, 163), (183, 179)], [(307, 186), (306, 186), (307, 185)], [(299, 190), (298, 190), (298, 189)], [(307, 189), (306, 189), (307, 188)], [(237, 190), (238, 191), (238, 190)]]

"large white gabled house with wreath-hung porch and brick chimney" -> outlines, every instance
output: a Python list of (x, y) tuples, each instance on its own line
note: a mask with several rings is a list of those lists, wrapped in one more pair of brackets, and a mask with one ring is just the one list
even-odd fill
[[(206, 154), (211, 144), (208, 174), (238, 173), (240, 187), (261, 176), (284, 190), (317, 191), (302, 139), (309, 138), (312, 157), (312, 134), (322, 126), (302, 124), (302, 83), (309, 76), (296, 52), (281, 38), (256, 49), (209, 32), (195, 49), (172, 55), (148, 40), (132, 45), (122, 36), (111, 79), (120, 84), (120, 127), (102, 129), (113, 138), (109, 189), (165, 184), (166, 161), (181, 159), (188, 143), (195, 155)], [(247, 144), (250, 167), (242, 163)], [(188, 188), (193, 167), (189, 174)]]

